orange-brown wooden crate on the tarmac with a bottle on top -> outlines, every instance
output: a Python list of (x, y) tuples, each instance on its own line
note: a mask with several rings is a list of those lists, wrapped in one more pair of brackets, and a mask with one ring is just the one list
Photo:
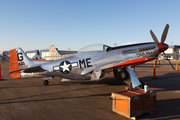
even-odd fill
[(156, 93), (144, 92), (144, 89), (112, 93), (112, 110), (118, 114), (132, 118), (144, 113), (152, 113), (156, 109)]

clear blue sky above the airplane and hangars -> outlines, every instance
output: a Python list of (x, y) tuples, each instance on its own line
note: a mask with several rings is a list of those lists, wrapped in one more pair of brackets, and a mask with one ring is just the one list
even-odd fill
[(0, 51), (79, 50), (153, 42), (150, 30), (165, 43), (180, 45), (179, 0), (0, 0)]

